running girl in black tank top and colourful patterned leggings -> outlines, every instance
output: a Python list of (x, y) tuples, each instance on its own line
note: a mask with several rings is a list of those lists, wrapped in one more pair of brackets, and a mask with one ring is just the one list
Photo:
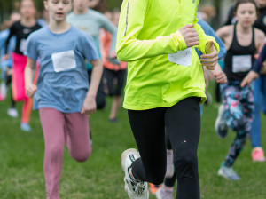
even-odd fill
[(237, 23), (220, 28), (216, 32), (227, 49), (224, 73), (228, 83), (220, 85), (223, 105), (219, 107), (215, 129), (221, 138), (227, 135), (228, 127), (237, 132), (218, 175), (239, 180), (239, 175), (232, 166), (246, 144), (254, 115), (254, 86), (250, 84), (241, 87), (241, 82), (252, 69), (254, 54), (262, 49), (264, 33), (253, 27), (257, 19), (254, 0), (238, 0), (234, 13)]

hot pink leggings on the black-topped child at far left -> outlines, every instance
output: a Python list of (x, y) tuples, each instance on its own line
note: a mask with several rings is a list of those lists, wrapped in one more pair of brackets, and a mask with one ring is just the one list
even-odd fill
[[(12, 60), (12, 97), (15, 101), (24, 101), (24, 104), (22, 106), (21, 122), (29, 123), (33, 100), (31, 98), (27, 98), (24, 83), (24, 70), (27, 64), (27, 57), (17, 53), (12, 53)], [(34, 83), (36, 82), (37, 72), (38, 70), (36, 70)]]

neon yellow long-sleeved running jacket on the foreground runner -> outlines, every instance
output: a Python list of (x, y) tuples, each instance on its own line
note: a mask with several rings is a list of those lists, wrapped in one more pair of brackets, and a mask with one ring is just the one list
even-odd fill
[[(194, 24), (200, 37), (197, 46), (215, 38), (197, 24), (200, 0), (124, 0), (118, 27), (118, 59), (129, 62), (123, 107), (146, 110), (171, 107), (187, 97), (206, 100), (200, 59), (194, 47), (187, 48), (177, 32)], [(215, 43), (219, 52), (219, 45)]]

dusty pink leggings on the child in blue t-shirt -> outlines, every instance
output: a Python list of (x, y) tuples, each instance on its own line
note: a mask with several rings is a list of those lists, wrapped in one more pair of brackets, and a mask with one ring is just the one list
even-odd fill
[(66, 147), (74, 160), (86, 161), (91, 154), (88, 115), (65, 114), (50, 107), (40, 108), (45, 144), (44, 176), (47, 199), (59, 199), (59, 181)]

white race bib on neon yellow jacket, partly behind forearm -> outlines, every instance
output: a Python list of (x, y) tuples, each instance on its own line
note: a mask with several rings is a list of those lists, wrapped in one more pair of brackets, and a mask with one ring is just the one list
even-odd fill
[(192, 60), (192, 48), (187, 48), (184, 51), (168, 54), (168, 60), (175, 64), (189, 67), (191, 66)]

